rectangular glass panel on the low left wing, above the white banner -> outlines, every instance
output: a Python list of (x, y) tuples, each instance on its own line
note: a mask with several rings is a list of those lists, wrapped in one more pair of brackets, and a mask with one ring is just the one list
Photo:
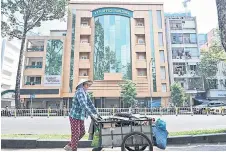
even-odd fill
[(45, 75), (61, 75), (63, 42), (48, 40), (46, 48)]

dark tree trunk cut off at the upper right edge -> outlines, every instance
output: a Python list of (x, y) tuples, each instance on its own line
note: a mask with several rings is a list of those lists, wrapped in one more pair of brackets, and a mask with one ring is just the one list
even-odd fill
[(216, 0), (221, 43), (226, 51), (226, 0)]

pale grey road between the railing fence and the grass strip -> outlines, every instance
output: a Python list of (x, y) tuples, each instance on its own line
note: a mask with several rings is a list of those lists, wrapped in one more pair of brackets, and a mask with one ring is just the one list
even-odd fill
[[(154, 116), (159, 118), (160, 116)], [(169, 132), (224, 129), (226, 116), (162, 116)], [(70, 134), (69, 119), (64, 117), (1, 117), (2, 134)], [(88, 130), (90, 120), (85, 121)]]

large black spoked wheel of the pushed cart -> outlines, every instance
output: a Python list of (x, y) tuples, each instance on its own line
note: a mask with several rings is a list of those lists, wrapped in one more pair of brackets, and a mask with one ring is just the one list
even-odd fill
[[(137, 139), (137, 141), (140, 141), (140, 138), (143, 138), (143, 141), (145, 141), (145, 145), (131, 145), (131, 143), (129, 144), (128, 142), (132, 142), (132, 140), (134, 141), (134, 139), (136, 139), (136, 137), (139, 136), (139, 139)], [(132, 138), (134, 137), (134, 138)], [(136, 143), (136, 141), (135, 141)], [(128, 145), (127, 145), (128, 144)], [(141, 132), (132, 132), (128, 135), (126, 135), (122, 141), (122, 145), (121, 145), (121, 151), (144, 151), (147, 147), (149, 147), (148, 151), (153, 151), (153, 144), (151, 142), (151, 140), (143, 133)]]

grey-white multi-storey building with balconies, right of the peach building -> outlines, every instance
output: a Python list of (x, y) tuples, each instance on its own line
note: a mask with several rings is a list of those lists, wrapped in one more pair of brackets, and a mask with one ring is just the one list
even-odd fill
[(170, 83), (179, 82), (192, 98), (204, 92), (201, 77), (197, 75), (200, 51), (196, 18), (190, 15), (166, 16), (166, 38)]

